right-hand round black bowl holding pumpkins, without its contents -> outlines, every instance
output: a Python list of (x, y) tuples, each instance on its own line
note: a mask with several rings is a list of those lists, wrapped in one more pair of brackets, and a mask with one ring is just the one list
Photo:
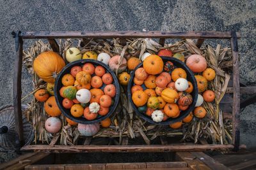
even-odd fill
[[(167, 120), (163, 121), (163, 122), (154, 122), (152, 120), (151, 117), (148, 117), (147, 115), (145, 115), (144, 113), (141, 113), (138, 108), (135, 106), (135, 104), (132, 102), (132, 94), (131, 94), (131, 88), (134, 85), (133, 82), (133, 78), (134, 78), (134, 73), (136, 71), (136, 69), (138, 69), (139, 67), (143, 66), (143, 63), (141, 62), (135, 69), (134, 71), (132, 71), (131, 73), (131, 79), (129, 80), (129, 84), (128, 84), (128, 97), (129, 97), (129, 101), (132, 104), (132, 108), (135, 110), (135, 112), (142, 117), (144, 120), (146, 120), (147, 122), (150, 122), (151, 124), (157, 124), (157, 125), (169, 125), (169, 124), (173, 124), (175, 122), (179, 122), (180, 120), (182, 120), (183, 118), (185, 118), (186, 116), (189, 115), (189, 113), (191, 111), (194, 110), (195, 105), (196, 105), (196, 100), (197, 100), (197, 96), (198, 96), (198, 89), (197, 89), (197, 83), (196, 83), (196, 79), (195, 76), (193, 74), (193, 72), (188, 68), (188, 66), (186, 66), (186, 64), (182, 61), (180, 61), (179, 59), (175, 59), (173, 57), (161, 57), (163, 59), (164, 62), (170, 61), (173, 62), (175, 67), (180, 67), (182, 69), (184, 69), (187, 73), (187, 80), (190, 81), (193, 84), (193, 92), (191, 92), (191, 96), (193, 97), (193, 103), (189, 105), (189, 108), (185, 111), (180, 111), (180, 115), (177, 118), (168, 118)], [(143, 89), (145, 89), (145, 86), (143, 84)]]

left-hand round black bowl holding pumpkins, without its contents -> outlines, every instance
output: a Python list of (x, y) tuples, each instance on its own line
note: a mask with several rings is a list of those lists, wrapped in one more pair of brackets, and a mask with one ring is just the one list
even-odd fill
[[(84, 118), (84, 117), (79, 117), (79, 118), (73, 117), (70, 113), (70, 110), (66, 109), (62, 106), (62, 101), (63, 101), (64, 98), (60, 96), (60, 89), (63, 86), (62, 83), (61, 83), (61, 78), (65, 74), (70, 73), (70, 70), (71, 70), (72, 67), (74, 67), (74, 66), (83, 66), (86, 63), (92, 63), (94, 66), (104, 67), (106, 69), (106, 73), (110, 73), (113, 76), (113, 84), (116, 87), (116, 96), (114, 98), (115, 103), (109, 108), (109, 112), (108, 112), (107, 115), (104, 115), (104, 116), (98, 115), (98, 117), (95, 120), (86, 120), (86, 118)], [(100, 89), (103, 90), (105, 86), (106, 85), (103, 84), (102, 87), (100, 87)], [(119, 83), (118, 83), (118, 80), (116, 78), (115, 73), (113, 73), (113, 71), (111, 71), (111, 69), (106, 64), (104, 64), (103, 62), (100, 62), (98, 60), (92, 60), (92, 59), (76, 60), (74, 62), (70, 62), (69, 64), (67, 64), (67, 66), (63, 67), (61, 72), (58, 74), (58, 77), (57, 77), (57, 79), (55, 81), (55, 84), (54, 84), (54, 96), (55, 96), (55, 99), (56, 99), (56, 103), (58, 104), (58, 107), (61, 110), (61, 113), (63, 113), (65, 115), (65, 117), (67, 117), (70, 120), (72, 120), (74, 122), (77, 122), (79, 124), (95, 124), (97, 122), (100, 122), (100, 121), (108, 118), (115, 111), (116, 106), (117, 106), (118, 101), (119, 101), (119, 97), (120, 97), (120, 86), (119, 86)]]

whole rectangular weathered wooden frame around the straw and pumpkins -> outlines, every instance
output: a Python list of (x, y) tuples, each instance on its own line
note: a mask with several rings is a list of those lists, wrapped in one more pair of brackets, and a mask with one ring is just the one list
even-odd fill
[[(209, 150), (238, 150), (239, 149), (239, 112), (240, 112), (240, 85), (239, 85), (239, 55), (237, 38), (241, 35), (236, 32), (140, 32), (140, 31), (111, 31), (111, 32), (13, 32), (16, 46), (15, 74), (13, 80), (13, 104), (15, 108), (15, 123), (17, 130), (17, 151), (34, 150), (37, 152), (192, 152)], [(233, 131), (232, 145), (130, 145), (130, 146), (47, 146), (30, 145), (24, 146), (22, 117), (21, 117), (21, 68), (22, 68), (22, 45), (23, 39), (48, 39), (52, 50), (59, 52), (55, 38), (159, 38), (159, 43), (164, 45), (166, 38), (191, 38), (198, 39), (196, 46), (200, 47), (204, 39), (230, 39), (232, 49), (233, 67)], [(243, 89), (241, 92), (248, 92)]]

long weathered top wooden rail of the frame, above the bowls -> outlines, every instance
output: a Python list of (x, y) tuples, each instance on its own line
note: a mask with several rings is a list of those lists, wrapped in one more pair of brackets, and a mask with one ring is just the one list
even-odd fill
[[(237, 32), (237, 38), (241, 35)], [(33, 38), (213, 38), (230, 39), (231, 32), (161, 32), (161, 31), (59, 31), (59, 32), (24, 32), (24, 39)]]

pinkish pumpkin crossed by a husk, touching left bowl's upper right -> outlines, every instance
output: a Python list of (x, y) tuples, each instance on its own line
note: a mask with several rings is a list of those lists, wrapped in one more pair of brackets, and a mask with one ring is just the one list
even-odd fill
[(121, 62), (120, 60), (121, 60), (120, 55), (115, 55), (114, 57), (111, 57), (111, 59), (108, 62), (108, 66), (112, 71), (116, 72), (116, 70), (118, 70), (117, 71), (118, 73), (122, 73), (123, 71), (125, 71), (127, 60), (123, 57), (122, 63), (119, 66), (119, 62)]

